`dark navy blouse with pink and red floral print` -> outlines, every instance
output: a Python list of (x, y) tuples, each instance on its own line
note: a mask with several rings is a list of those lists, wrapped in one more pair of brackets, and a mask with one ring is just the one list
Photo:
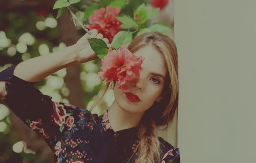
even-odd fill
[[(35, 88), (35, 83), (13, 75), (15, 66), (0, 72), (0, 81), (6, 81), (2, 99), (46, 141), (54, 152), (55, 163), (127, 163), (138, 154), (137, 127), (114, 132), (107, 111), (97, 115), (67, 103), (56, 103)], [(158, 139), (162, 143), (159, 163), (180, 163), (179, 148)]]

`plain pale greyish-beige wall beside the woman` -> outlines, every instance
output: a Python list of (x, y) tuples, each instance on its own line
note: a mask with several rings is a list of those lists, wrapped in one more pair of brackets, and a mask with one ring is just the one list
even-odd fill
[(181, 163), (256, 163), (256, 1), (176, 0)]

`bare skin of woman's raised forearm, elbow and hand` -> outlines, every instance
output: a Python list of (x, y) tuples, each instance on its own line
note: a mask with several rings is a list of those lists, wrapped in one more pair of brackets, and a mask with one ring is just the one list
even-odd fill
[[(91, 50), (87, 39), (95, 37), (102, 39), (103, 36), (102, 34), (97, 34), (97, 30), (91, 30), (90, 33), (91, 35), (86, 33), (75, 45), (19, 63), (15, 67), (13, 75), (24, 81), (36, 83), (60, 69), (96, 59), (97, 56)], [(107, 39), (104, 39), (104, 41), (108, 43)], [(4, 96), (6, 91), (4, 86), (6, 80), (0, 80), (1, 97)]]

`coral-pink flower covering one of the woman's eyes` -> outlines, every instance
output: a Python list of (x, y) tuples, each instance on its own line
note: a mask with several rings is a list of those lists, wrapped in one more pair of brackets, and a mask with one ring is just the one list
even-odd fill
[(101, 71), (98, 73), (101, 80), (107, 82), (116, 81), (121, 90), (128, 89), (125, 84), (140, 77), (140, 66), (143, 57), (137, 57), (128, 50), (127, 47), (120, 47), (118, 50), (112, 51), (101, 60)]

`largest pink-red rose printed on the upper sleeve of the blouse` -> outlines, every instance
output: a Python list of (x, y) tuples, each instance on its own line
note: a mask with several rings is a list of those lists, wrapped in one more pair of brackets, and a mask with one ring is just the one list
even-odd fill
[(66, 110), (64, 109), (64, 106), (59, 103), (52, 102), (52, 104), (54, 122), (58, 126), (62, 126), (62, 124), (65, 123), (65, 118), (67, 117)]

